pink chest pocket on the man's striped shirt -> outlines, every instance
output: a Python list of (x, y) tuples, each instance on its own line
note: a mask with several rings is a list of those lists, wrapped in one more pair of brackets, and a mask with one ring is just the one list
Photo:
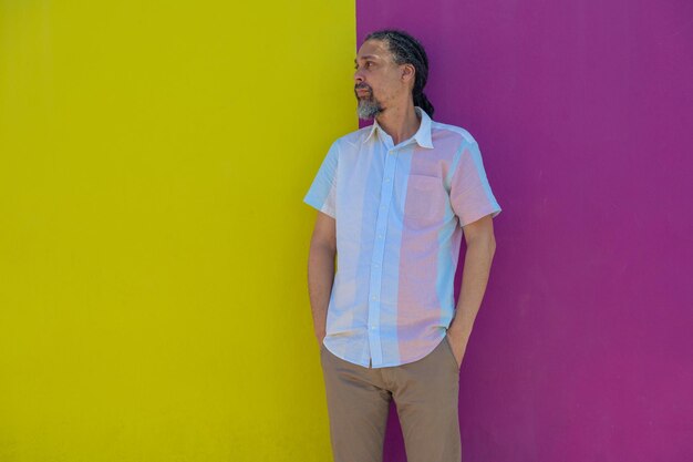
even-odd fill
[(442, 220), (448, 201), (443, 179), (437, 176), (410, 175), (404, 216), (426, 226)]

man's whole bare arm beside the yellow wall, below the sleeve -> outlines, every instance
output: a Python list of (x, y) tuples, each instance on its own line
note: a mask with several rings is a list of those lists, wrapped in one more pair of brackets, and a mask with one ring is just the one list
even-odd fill
[(318, 345), (322, 345), (325, 336), (328, 305), (334, 281), (334, 257), (337, 256), (335, 224), (334, 218), (318, 212), (316, 227), (310, 239), (308, 292)]

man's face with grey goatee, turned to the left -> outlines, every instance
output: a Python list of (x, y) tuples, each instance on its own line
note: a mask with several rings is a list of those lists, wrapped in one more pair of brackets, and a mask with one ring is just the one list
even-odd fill
[(354, 62), (354, 94), (360, 119), (374, 119), (408, 92), (402, 79), (402, 66), (394, 63), (385, 42), (365, 41)]

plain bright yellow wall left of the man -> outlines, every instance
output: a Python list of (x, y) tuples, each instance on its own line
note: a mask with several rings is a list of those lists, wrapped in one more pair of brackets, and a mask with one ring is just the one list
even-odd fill
[(0, 0), (0, 461), (325, 461), (353, 1)]

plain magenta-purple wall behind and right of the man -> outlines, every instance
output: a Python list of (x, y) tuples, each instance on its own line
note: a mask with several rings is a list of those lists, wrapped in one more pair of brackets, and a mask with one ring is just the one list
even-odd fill
[(693, 2), (358, 1), (359, 43), (383, 27), (504, 208), (464, 462), (693, 460)]

